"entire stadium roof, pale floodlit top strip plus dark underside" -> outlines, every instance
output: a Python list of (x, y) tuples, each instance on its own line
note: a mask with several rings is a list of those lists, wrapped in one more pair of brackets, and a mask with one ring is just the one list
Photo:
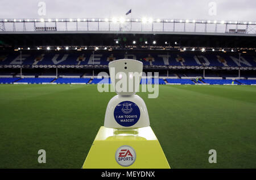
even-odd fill
[(204, 47), (255, 51), (255, 28), (255, 22), (224, 20), (0, 19), (0, 47)]

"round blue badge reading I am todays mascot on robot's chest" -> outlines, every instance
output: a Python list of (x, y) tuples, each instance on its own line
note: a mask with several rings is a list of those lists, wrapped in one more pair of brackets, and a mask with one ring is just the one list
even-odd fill
[(123, 101), (115, 107), (115, 121), (125, 127), (130, 127), (136, 124), (141, 116), (141, 111), (137, 104), (131, 101)]

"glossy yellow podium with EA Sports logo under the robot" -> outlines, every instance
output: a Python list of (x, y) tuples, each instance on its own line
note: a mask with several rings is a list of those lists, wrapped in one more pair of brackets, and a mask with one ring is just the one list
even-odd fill
[(84, 169), (170, 169), (151, 127), (101, 127), (85, 159)]

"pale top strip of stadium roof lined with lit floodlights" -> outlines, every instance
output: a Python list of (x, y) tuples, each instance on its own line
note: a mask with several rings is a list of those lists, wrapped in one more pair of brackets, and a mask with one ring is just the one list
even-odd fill
[[(195, 32), (202, 32), (201, 30), (197, 31), (196, 25), (197, 24), (204, 24), (205, 25), (205, 32), (216, 32), (216, 33), (226, 33), (226, 32), (230, 32), (230, 33), (244, 33), (244, 34), (256, 34), (255, 32), (255, 26), (256, 26), (256, 22), (255, 21), (234, 21), (234, 20), (205, 20), (205, 19), (159, 19), (159, 18), (151, 18), (151, 17), (145, 17), (143, 16), (142, 18), (123, 18), (121, 17), (112, 17), (112, 18), (40, 18), (40, 19), (0, 19), (0, 23), (2, 24), (2, 26), (0, 26), (0, 32), (1, 31), (6, 31), (5, 29), (5, 25), (7, 25), (7, 23), (13, 23), (13, 30), (11, 30), (11, 28), (8, 28), (7, 31), (20, 31), (21, 29), (16, 29), (15, 28), (15, 24), (16, 23), (24, 23), (23, 24), (23, 31), (40, 31), (41, 29), (36, 28), (36, 27), (47, 27), (48, 23), (55, 23), (55, 25), (53, 25), (54, 27), (56, 27), (56, 30), (53, 29), (54, 31), (63, 31), (63, 26), (60, 25), (60, 23), (65, 23), (64, 26), (64, 31), (71, 31), (68, 29), (67, 24), (68, 23), (76, 23), (76, 31), (79, 31), (79, 26), (82, 23), (86, 23), (86, 30), (89, 31), (89, 27), (93, 26), (92, 24), (89, 24), (90, 22), (96, 22), (98, 23), (98, 28), (97, 31), (104, 31), (106, 30), (105, 28), (102, 28), (104, 30), (100, 30), (100, 23), (104, 22), (104, 24), (102, 24), (102, 26), (106, 26), (109, 27), (109, 31), (110, 31), (110, 24), (112, 23), (119, 23), (120, 24), (120, 28), (119, 31), (136, 31), (133, 30), (133, 28), (126, 28), (127, 26), (124, 26), (125, 28), (121, 28), (121, 24), (124, 23), (130, 23), (130, 25), (132, 23), (142, 23), (143, 24), (151, 24), (151, 31), (159, 31), (159, 30), (155, 30), (153, 24), (155, 23), (159, 23), (162, 26), (163, 31), (167, 31), (166, 28), (164, 27), (165, 23), (180, 23), (183, 24), (184, 29), (183, 31), (186, 32), (186, 24), (195, 24), (195, 28), (194, 31)], [(106, 22), (109, 23), (108, 25), (106, 25)], [(34, 27), (32, 27), (31, 25), (27, 26), (27, 23), (34, 23)], [(39, 25), (39, 23), (44, 23)], [(0, 24), (0, 25), (1, 25)], [(208, 24), (214, 24), (215, 26), (215, 31), (213, 30), (208, 30)], [(226, 26), (223, 30), (223, 28), (218, 28), (218, 24)], [(128, 24), (127, 24), (128, 25)], [(230, 25), (236, 25), (236, 28), (230, 26)], [(243, 25), (243, 26), (242, 26)], [(82, 26), (82, 25), (81, 25)], [(241, 26), (238, 27), (238, 26)], [(213, 27), (211, 27), (213, 28)], [(150, 29), (148, 29), (150, 30)], [(144, 31), (148, 31), (147, 29), (144, 28)], [(44, 30), (45, 31), (45, 30)], [(72, 29), (73, 31), (73, 29)], [(84, 30), (83, 30), (84, 31)], [(116, 30), (114, 30), (116, 31)], [(143, 31), (143, 28), (142, 28)], [(175, 27), (173, 29), (168, 30), (170, 32), (175, 31), (175, 32), (179, 32), (179, 30), (175, 30)], [(192, 32), (191, 30), (188, 32)]]

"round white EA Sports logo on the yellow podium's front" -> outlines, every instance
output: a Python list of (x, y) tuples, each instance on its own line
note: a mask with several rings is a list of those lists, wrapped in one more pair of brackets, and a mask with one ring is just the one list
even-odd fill
[(115, 160), (121, 166), (130, 166), (136, 160), (136, 152), (131, 146), (122, 145), (115, 152)]

